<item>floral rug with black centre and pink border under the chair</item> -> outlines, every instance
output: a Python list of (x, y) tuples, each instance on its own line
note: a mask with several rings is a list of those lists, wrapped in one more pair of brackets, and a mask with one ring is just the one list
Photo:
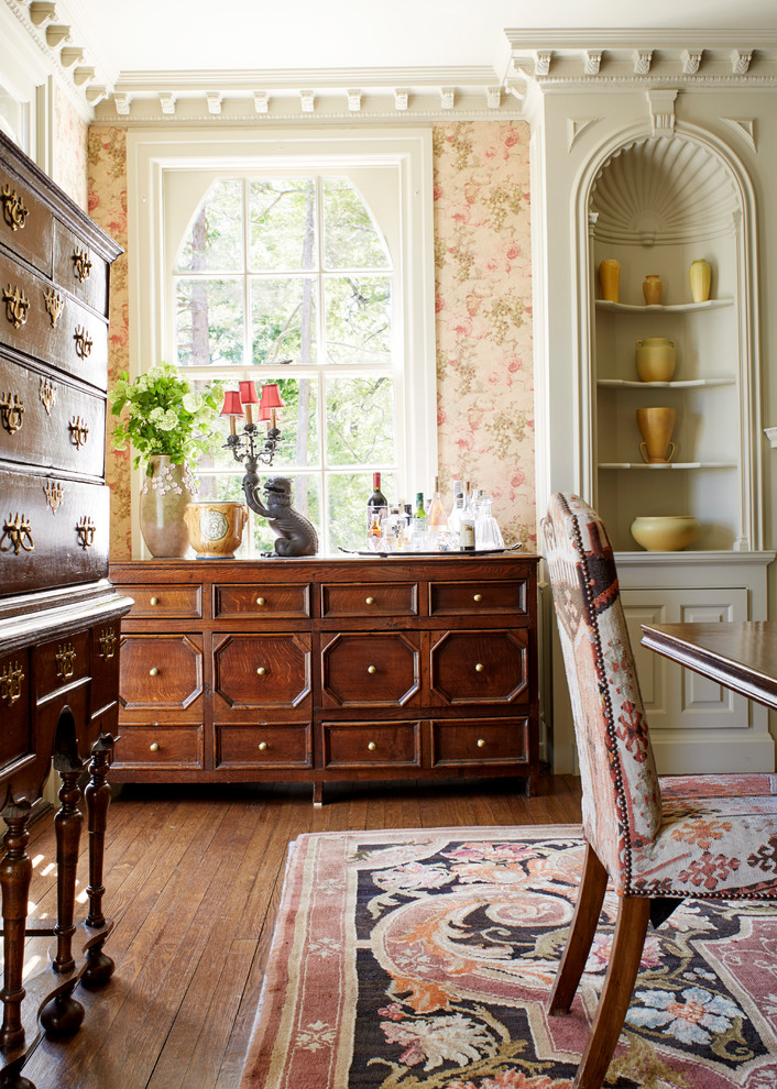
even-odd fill
[[(616, 913), (608, 893), (548, 1016), (582, 858), (573, 826), (302, 836), (241, 1089), (568, 1089)], [(777, 1087), (777, 906), (688, 900), (648, 928), (604, 1084)]]

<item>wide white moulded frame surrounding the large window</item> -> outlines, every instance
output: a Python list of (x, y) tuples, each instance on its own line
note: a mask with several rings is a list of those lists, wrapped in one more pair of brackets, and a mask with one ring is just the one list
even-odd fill
[[(398, 172), (400, 213), (387, 232), (398, 270), (403, 343), (397, 374), (397, 490), (428, 491), (437, 474), (437, 381), (434, 305), (431, 131), (381, 130), (130, 130), (128, 132), (128, 238), (130, 373), (165, 360), (175, 362), (174, 307), (161, 306), (169, 290), (180, 224), (166, 229), (163, 216), (168, 172), (198, 170), (210, 180), (230, 170), (316, 170), (316, 164), (350, 169), (363, 165)], [(369, 204), (369, 200), (368, 200)], [(183, 224), (184, 227), (186, 224)], [(166, 320), (169, 316), (171, 320)], [(236, 472), (239, 472), (236, 465)], [(142, 556), (138, 521), (140, 479), (132, 483), (133, 554)]]

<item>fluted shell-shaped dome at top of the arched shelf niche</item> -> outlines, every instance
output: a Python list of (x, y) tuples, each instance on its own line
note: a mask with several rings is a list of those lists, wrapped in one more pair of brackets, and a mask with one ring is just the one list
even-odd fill
[(598, 240), (645, 245), (729, 234), (741, 211), (724, 163), (678, 134), (619, 148), (594, 179), (590, 207)]

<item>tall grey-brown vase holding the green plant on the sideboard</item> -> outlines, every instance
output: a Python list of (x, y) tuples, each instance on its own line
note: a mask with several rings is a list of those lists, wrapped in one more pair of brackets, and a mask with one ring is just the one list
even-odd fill
[(197, 485), (186, 464), (174, 465), (168, 454), (151, 454), (140, 492), (140, 529), (156, 559), (183, 559), (189, 548), (184, 516), (197, 498)]

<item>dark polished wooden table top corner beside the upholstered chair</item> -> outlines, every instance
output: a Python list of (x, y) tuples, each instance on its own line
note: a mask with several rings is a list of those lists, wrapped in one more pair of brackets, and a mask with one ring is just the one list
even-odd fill
[(643, 624), (642, 645), (777, 710), (777, 624)]

